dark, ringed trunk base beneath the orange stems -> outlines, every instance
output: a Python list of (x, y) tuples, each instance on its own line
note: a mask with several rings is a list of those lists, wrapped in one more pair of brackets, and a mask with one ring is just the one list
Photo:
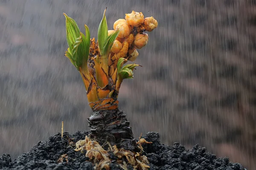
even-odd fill
[(129, 127), (130, 122), (127, 121), (123, 111), (119, 109), (95, 111), (87, 120), (91, 127), (90, 138), (99, 144), (105, 145), (109, 142), (111, 146), (116, 145), (125, 150), (140, 151), (131, 127)]

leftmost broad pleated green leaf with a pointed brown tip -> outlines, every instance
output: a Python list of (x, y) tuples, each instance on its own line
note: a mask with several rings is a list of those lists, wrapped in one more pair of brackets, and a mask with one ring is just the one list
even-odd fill
[(67, 43), (70, 50), (73, 49), (73, 45), (76, 42), (76, 39), (80, 36), (80, 30), (77, 26), (77, 23), (72, 18), (68, 17), (67, 14), (63, 13), (66, 17), (66, 34), (67, 34)]

